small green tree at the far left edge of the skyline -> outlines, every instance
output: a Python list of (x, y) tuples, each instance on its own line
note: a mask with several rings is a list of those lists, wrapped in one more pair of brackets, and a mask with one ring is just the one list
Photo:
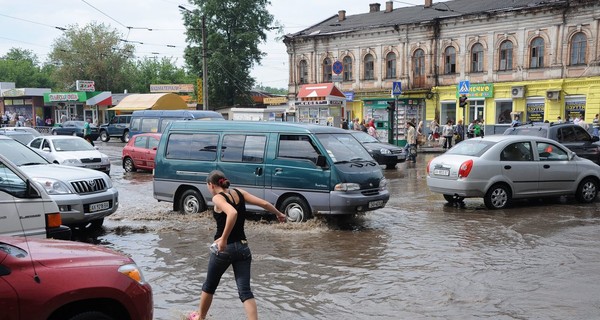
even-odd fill
[(51, 88), (50, 67), (41, 67), (31, 50), (11, 48), (0, 57), (0, 81), (14, 82), (17, 88)]

